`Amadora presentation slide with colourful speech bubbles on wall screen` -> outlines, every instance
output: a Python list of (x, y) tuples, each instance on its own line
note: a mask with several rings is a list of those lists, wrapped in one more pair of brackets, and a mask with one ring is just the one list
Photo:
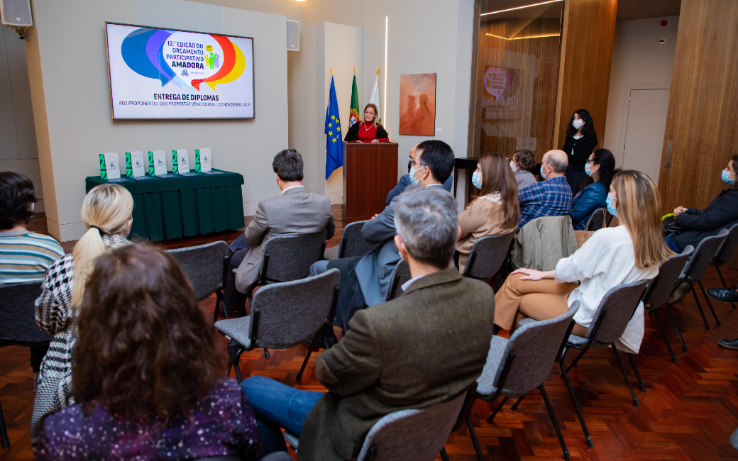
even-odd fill
[(253, 38), (106, 23), (114, 119), (254, 117)]

